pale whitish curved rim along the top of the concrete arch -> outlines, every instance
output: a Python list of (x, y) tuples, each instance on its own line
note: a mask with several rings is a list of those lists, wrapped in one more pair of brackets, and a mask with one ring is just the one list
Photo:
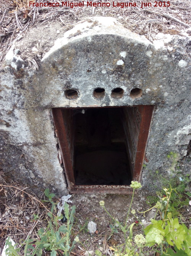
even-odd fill
[[(124, 28), (124, 26), (115, 18), (92, 17), (77, 23), (74, 28), (66, 31), (62, 38), (59, 38), (57, 41), (55, 41), (55, 45), (50, 49), (49, 52), (45, 54), (45, 56), (42, 58), (42, 62), (54, 58), (55, 55), (57, 55), (57, 51), (60, 49), (64, 49), (64, 46), (67, 44), (72, 46), (72, 43), (77, 43), (77, 41), (81, 43), (81, 40), (84, 40), (84, 43), (86, 43), (87, 40), (90, 44), (93, 44), (94, 36), (99, 36), (99, 40), (102, 41), (102, 39), (104, 40), (105, 38), (102, 38), (102, 36), (107, 35), (113, 35), (116, 38), (124, 38), (124, 40), (126, 39), (129, 43), (134, 43), (135, 46), (137, 46), (137, 44), (143, 44), (145, 45), (145, 47), (152, 45), (151, 42), (147, 40), (144, 36), (140, 36)], [(109, 43), (110, 41), (104, 40), (104, 45), (102, 45), (103, 48)], [(113, 48), (118, 48), (119, 46), (120, 41), (118, 41), (118, 45), (116, 45), (114, 42)], [(84, 47), (87, 47), (86, 44), (84, 44)]]

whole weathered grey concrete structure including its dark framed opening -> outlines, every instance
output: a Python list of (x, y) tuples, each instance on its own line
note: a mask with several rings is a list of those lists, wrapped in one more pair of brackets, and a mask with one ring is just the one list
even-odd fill
[[(168, 153), (176, 152), (176, 160), (187, 153), (191, 126), (189, 44), (188, 37), (163, 34), (151, 43), (114, 18), (94, 17), (55, 41), (38, 70), (26, 69), (13, 46), (0, 70), (0, 160), (6, 177), (34, 191), (49, 187), (60, 195), (68, 193), (66, 177), (71, 192), (78, 191), (72, 190), (73, 178), (78, 185), (103, 185), (102, 192), (125, 193), (132, 179), (140, 180), (143, 190), (152, 189), (152, 172), (159, 168), (163, 175), (172, 172)], [(150, 109), (148, 116), (144, 106)], [(59, 115), (63, 115), (61, 121)], [(66, 132), (65, 142), (59, 122)], [(144, 132), (141, 147), (139, 139)], [(125, 150), (117, 144), (122, 142)], [(94, 150), (88, 152), (87, 145)], [(95, 148), (99, 152), (92, 156)], [(126, 157), (129, 176), (124, 174)], [(107, 169), (105, 176), (96, 168), (87, 173), (90, 164), (94, 166), (92, 161), (104, 159), (102, 167), (96, 168)], [(112, 162), (116, 166), (111, 170), (108, 159), (117, 159), (119, 165)], [(142, 172), (144, 160), (147, 166)], [(81, 174), (74, 170), (73, 177), (69, 170), (65, 177), (63, 162), (65, 168), (86, 170)], [(107, 177), (110, 183), (105, 183)], [(112, 185), (118, 185), (117, 190)], [(95, 186), (90, 192), (98, 190)]]

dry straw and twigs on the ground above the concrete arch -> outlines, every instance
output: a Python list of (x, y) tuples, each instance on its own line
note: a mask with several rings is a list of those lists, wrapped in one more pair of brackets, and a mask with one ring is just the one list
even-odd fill
[[(35, 1), (35, 0), (34, 0)], [(141, 0), (125, 1), (136, 2), (139, 7), (29, 7), (29, 0), (4, 0), (0, 5), (0, 68), (5, 54), (11, 45), (23, 38), (24, 33), (35, 25), (49, 24), (49, 21), (59, 20), (67, 29), (88, 16), (115, 17), (123, 25), (140, 35), (145, 35), (150, 41), (156, 33), (170, 33), (181, 35), (182, 30), (190, 26), (190, 0), (172, 0), (170, 7), (140, 8)], [(36, 0), (36, 2), (42, 2)], [(46, 1), (45, 1), (46, 2)], [(84, 1), (84, 2), (87, 2)], [(94, 0), (92, 2), (105, 2)], [(162, 1), (163, 2), (163, 1)]]

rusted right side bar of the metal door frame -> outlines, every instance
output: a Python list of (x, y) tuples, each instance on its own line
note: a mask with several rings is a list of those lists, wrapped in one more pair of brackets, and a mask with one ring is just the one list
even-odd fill
[(154, 113), (153, 105), (139, 105), (138, 111), (141, 113), (141, 124), (139, 132), (139, 140), (137, 146), (137, 154), (135, 159), (133, 180), (140, 182), (142, 165), (144, 163), (144, 157), (146, 154), (147, 143), (149, 140), (149, 130), (151, 127), (151, 121)]

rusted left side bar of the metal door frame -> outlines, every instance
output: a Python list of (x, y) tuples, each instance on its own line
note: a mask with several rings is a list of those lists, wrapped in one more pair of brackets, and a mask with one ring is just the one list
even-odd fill
[(53, 114), (53, 121), (55, 124), (55, 133), (58, 139), (58, 145), (60, 147), (62, 162), (65, 168), (66, 179), (67, 179), (69, 190), (70, 190), (70, 184), (75, 185), (75, 181), (74, 181), (73, 167), (70, 160), (70, 152), (68, 147), (66, 129), (65, 129), (65, 125), (62, 117), (62, 109), (53, 108), (52, 114)]

